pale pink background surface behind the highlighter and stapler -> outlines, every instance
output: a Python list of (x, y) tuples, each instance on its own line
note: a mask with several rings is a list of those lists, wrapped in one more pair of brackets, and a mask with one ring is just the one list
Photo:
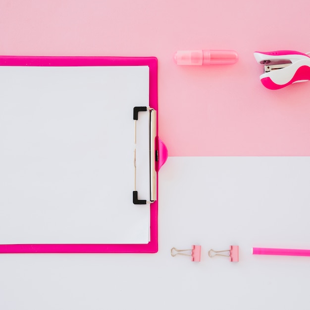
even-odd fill
[[(270, 91), (253, 52), (310, 51), (307, 0), (0, 0), (0, 54), (156, 56), (169, 155), (310, 155), (310, 83)], [(239, 62), (182, 67), (177, 50)]]

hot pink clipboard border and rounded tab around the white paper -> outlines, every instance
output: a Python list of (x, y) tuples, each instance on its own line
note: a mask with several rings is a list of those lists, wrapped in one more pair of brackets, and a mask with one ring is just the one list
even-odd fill
[[(149, 106), (158, 111), (157, 59), (155, 57), (46, 57), (46, 56), (0, 56), (1, 66), (149, 66)], [(155, 150), (158, 170), (167, 159), (167, 149), (158, 138), (158, 113), (156, 113)], [(156, 179), (158, 185), (158, 177)], [(158, 189), (158, 186), (157, 186)], [(158, 190), (157, 190), (158, 191)], [(158, 251), (158, 195), (150, 205), (151, 227), (148, 244), (5, 244), (0, 253), (156, 253)]]

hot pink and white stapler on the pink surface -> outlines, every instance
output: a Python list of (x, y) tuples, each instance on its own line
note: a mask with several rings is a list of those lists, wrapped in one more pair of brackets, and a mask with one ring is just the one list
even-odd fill
[(264, 73), (259, 78), (266, 88), (280, 89), (310, 80), (308, 54), (296, 51), (255, 52), (254, 57), (264, 65)]

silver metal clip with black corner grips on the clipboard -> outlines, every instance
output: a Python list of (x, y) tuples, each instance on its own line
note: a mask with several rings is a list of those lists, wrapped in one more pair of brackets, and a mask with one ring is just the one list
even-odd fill
[[(136, 167), (136, 145), (137, 145), (137, 121), (139, 112), (149, 113), (149, 184), (150, 184), (150, 197), (145, 200), (138, 198), (137, 191), (137, 167)], [(133, 109), (134, 119), (134, 191), (133, 191), (133, 204), (134, 205), (146, 205), (156, 201), (157, 192), (157, 173), (155, 169), (155, 162), (158, 161), (158, 151), (155, 148), (155, 139), (157, 133), (157, 116), (156, 110), (147, 106), (135, 106)]]

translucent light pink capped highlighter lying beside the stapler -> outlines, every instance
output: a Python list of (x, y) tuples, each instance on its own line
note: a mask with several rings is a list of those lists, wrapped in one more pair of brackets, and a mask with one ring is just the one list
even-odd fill
[(177, 51), (173, 58), (179, 65), (234, 64), (238, 53), (233, 50)]

